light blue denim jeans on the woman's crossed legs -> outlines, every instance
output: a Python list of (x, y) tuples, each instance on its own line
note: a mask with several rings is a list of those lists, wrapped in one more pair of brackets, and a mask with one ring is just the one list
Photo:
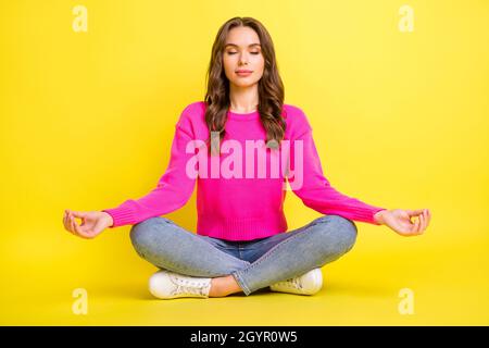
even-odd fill
[(153, 265), (197, 277), (231, 274), (247, 296), (335, 261), (350, 251), (356, 234), (356, 225), (339, 215), (244, 241), (201, 236), (166, 217), (151, 217), (130, 228), (137, 253)]

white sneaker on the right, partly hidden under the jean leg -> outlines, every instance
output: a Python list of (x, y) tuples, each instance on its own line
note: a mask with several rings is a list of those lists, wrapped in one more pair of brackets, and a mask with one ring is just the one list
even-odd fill
[(272, 291), (298, 295), (314, 295), (323, 287), (321, 269), (313, 269), (308, 273), (293, 278), (275, 283), (269, 286)]

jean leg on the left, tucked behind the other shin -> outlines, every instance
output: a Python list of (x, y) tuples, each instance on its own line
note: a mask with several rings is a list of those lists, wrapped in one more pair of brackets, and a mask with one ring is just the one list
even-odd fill
[(225, 276), (250, 265), (166, 217), (134, 225), (130, 239), (137, 253), (153, 265), (190, 276)]

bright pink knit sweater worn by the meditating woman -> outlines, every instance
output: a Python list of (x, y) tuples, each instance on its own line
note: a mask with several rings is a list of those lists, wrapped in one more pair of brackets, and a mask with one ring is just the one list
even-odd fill
[[(324, 176), (304, 112), (284, 104), (287, 127), (279, 149), (266, 147), (258, 111), (228, 111), (221, 158), (208, 154), (211, 136), (205, 103), (187, 105), (175, 124), (165, 173), (148, 195), (105, 209), (117, 227), (181, 208), (197, 182), (197, 234), (227, 240), (251, 240), (287, 231), (286, 192), (323, 214), (378, 225), (374, 214), (385, 208), (366, 204), (337, 191)], [(218, 139), (218, 137), (217, 137)], [(289, 185), (289, 187), (287, 186)]]

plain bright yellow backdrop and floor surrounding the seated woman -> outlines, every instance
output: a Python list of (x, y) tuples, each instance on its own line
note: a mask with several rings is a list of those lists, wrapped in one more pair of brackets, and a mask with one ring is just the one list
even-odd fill
[[(73, 30), (73, 8), (88, 32)], [(414, 10), (402, 33), (399, 9)], [(487, 325), (488, 1), (2, 1), (1, 324)], [(405, 238), (358, 223), (313, 297), (158, 300), (130, 226), (86, 240), (64, 209), (113, 208), (164, 173), (174, 124), (202, 100), (228, 18), (269, 30), (286, 102), (304, 110), (326, 177), (389, 209), (429, 208)], [(195, 231), (196, 191), (167, 214)], [(259, 198), (258, 198), (259, 199)], [(288, 192), (289, 229), (321, 214)], [(72, 311), (73, 291), (88, 313)], [(399, 291), (414, 313), (398, 311)]]

